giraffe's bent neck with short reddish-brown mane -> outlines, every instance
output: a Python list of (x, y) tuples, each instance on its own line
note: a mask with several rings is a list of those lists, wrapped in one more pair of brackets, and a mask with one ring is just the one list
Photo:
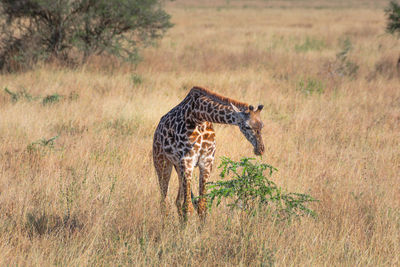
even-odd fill
[(222, 124), (238, 124), (236, 112), (233, 110), (231, 103), (244, 111), (248, 109), (248, 105), (229, 99), (206, 89), (194, 87), (189, 95), (194, 101), (194, 109), (191, 116), (197, 122), (214, 122)]

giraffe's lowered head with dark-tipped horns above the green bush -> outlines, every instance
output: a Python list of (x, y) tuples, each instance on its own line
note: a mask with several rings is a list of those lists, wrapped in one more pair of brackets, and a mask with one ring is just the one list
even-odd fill
[(254, 107), (250, 105), (249, 109), (245, 111), (239, 110), (233, 104), (231, 104), (231, 106), (238, 119), (237, 125), (240, 131), (254, 147), (254, 154), (262, 155), (264, 153), (264, 143), (261, 136), (261, 129), (264, 127), (264, 124), (261, 121), (260, 112), (264, 106), (259, 105), (254, 109)]

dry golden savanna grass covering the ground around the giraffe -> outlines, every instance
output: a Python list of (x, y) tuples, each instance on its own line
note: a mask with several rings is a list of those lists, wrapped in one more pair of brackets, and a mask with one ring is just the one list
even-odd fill
[[(2, 74), (0, 265), (398, 266), (399, 43), (386, 5), (174, 1), (175, 27), (137, 68), (93, 58)], [(243, 221), (220, 206), (182, 229), (173, 173), (162, 228), (152, 136), (194, 85), (265, 105), (262, 162), (320, 200), (317, 219)], [(237, 128), (216, 132), (215, 166), (252, 155)]]

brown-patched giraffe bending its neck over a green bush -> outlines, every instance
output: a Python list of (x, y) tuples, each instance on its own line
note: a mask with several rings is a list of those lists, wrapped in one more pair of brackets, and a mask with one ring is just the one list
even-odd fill
[(260, 119), (263, 105), (254, 108), (208, 89), (193, 87), (176, 107), (164, 115), (154, 133), (153, 161), (161, 192), (161, 211), (166, 215), (166, 197), (172, 167), (179, 178), (176, 207), (179, 217), (187, 221), (193, 213), (191, 198), (192, 173), (199, 167), (199, 199), (195, 203), (200, 218), (206, 216), (206, 182), (214, 163), (215, 132), (212, 123), (239, 126), (253, 145), (254, 153), (262, 155), (264, 144)]

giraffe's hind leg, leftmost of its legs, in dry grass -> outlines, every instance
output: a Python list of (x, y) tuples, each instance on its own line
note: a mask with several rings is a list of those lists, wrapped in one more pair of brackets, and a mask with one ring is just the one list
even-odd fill
[(161, 193), (161, 213), (167, 215), (166, 198), (168, 193), (169, 180), (171, 178), (172, 163), (163, 155), (154, 157), (154, 166), (158, 176), (158, 184)]

